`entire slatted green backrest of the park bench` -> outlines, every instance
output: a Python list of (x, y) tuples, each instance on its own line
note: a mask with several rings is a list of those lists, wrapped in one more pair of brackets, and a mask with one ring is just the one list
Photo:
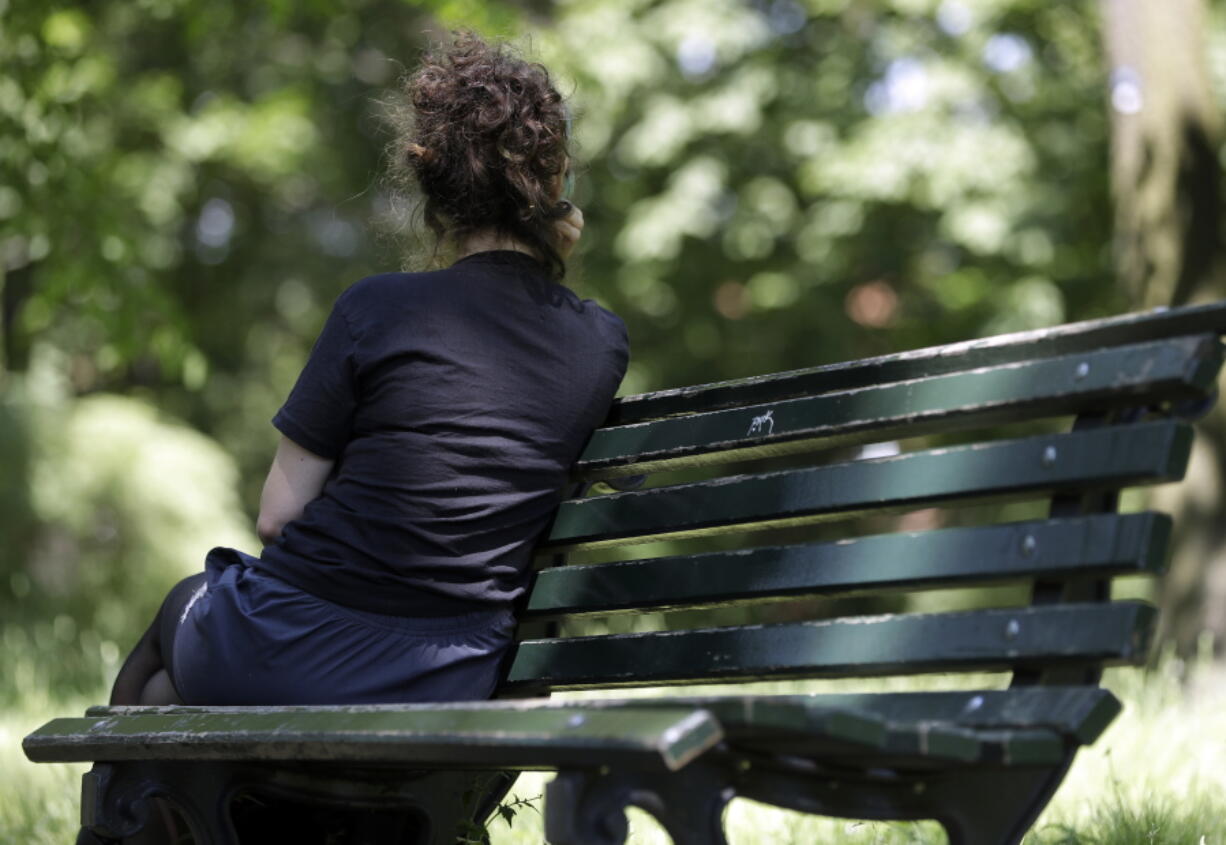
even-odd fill
[[(1112, 601), (1111, 580), (1161, 573), (1171, 522), (1117, 513), (1117, 494), (1183, 476), (1184, 417), (1211, 403), (1224, 330), (1226, 305), (1172, 309), (623, 399), (576, 477), (651, 486), (566, 500), (542, 556), (715, 547), (541, 570), (501, 694), (1000, 670), (1015, 686), (1097, 683), (1143, 661), (1155, 611)], [(891, 440), (913, 446), (857, 454)], [(980, 507), (1002, 500), (1048, 513)], [(944, 527), (883, 516), (927, 508)], [(856, 614), (864, 595), (1019, 583), (1029, 603)], [(798, 597), (852, 601), (653, 633), (531, 624)]]

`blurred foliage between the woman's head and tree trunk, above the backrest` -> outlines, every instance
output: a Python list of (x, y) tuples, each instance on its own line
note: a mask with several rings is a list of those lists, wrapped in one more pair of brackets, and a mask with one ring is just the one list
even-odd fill
[(588, 0), (541, 40), (631, 391), (1125, 304), (1085, 7)]

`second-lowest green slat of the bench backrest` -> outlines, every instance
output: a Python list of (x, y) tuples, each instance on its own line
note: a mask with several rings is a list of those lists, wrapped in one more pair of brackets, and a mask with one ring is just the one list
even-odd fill
[(537, 574), (522, 618), (1159, 573), (1170, 535), (1165, 514), (1103, 514), (559, 567)]

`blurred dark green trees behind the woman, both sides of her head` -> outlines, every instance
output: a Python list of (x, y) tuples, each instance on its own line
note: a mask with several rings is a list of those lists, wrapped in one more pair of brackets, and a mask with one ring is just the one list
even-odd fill
[(588, 162), (579, 283), (630, 326), (626, 391), (1132, 302), (1085, 4), (0, 0), (10, 372), (49, 347), (76, 394), (188, 419), (254, 508), (332, 298), (396, 264), (378, 101), (428, 33), (546, 17)]

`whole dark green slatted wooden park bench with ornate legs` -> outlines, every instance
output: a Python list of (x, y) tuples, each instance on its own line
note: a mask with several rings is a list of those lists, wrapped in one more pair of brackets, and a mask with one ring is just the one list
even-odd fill
[[(1172, 526), (1117, 513), (1118, 492), (1183, 476), (1224, 331), (1214, 304), (624, 399), (575, 468), (606, 492), (560, 507), (543, 563), (661, 538), (710, 547), (546, 565), (499, 700), (92, 708), (26, 753), (97, 762), (82, 817), (104, 840), (170, 805), (199, 843), (454, 843), (506, 773), (546, 769), (554, 845), (623, 841), (629, 805), (677, 843), (721, 843), (733, 796), (1018, 843), (1119, 710), (1102, 667), (1146, 659), (1155, 611), (1113, 601), (1112, 579), (1159, 575)], [(1031, 510), (981, 507), (1004, 500)], [(934, 507), (933, 530), (888, 516)], [(857, 614), (866, 595), (997, 584), (1020, 598)], [(780, 598), (798, 601), (765, 603)], [(673, 617), (685, 629), (558, 633), (678, 608), (707, 610)], [(937, 672), (1011, 675), (945, 692), (547, 697)]]

